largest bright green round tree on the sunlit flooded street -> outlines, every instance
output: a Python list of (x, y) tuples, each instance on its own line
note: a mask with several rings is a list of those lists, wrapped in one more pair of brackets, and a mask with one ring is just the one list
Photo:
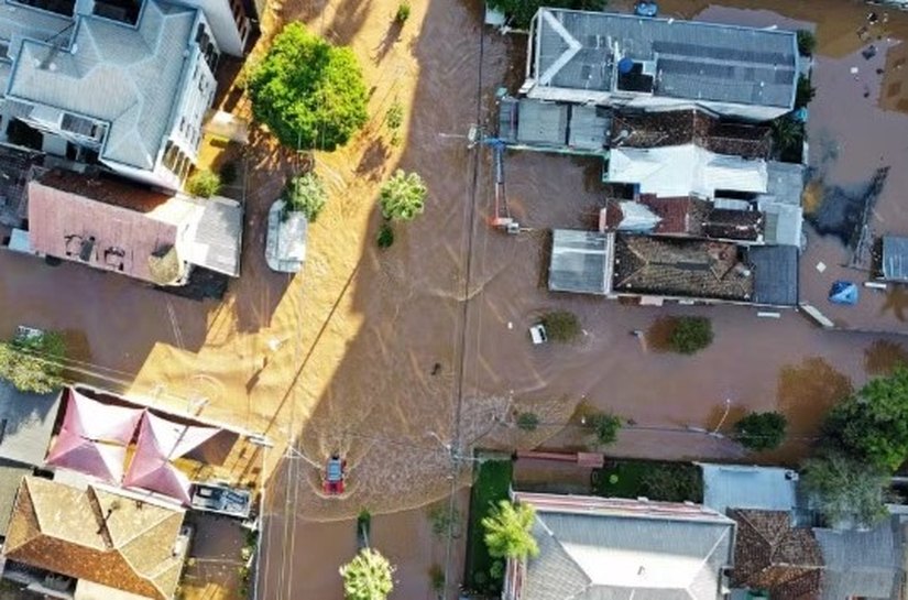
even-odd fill
[(368, 94), (353, 51), (291, 23), (249, 76), (252, 113), (282, 144), (335, 150), (365, 124)]

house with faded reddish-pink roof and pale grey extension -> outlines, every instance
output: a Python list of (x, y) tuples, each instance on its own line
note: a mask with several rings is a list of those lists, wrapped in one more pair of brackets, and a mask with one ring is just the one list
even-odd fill
[(182, 285), (194, 266), (239, 275), (242, 208), (168, 196), (103, 177), (50, 170), (28, 186), (29, 243), (155, 285)]

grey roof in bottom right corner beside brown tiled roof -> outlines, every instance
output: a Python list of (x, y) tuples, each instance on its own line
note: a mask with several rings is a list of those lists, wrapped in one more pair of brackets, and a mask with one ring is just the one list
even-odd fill
[(868, 532), (813, 530), (825, 563), (823, 600), (900, 597), (901, 519), (893, 515)]

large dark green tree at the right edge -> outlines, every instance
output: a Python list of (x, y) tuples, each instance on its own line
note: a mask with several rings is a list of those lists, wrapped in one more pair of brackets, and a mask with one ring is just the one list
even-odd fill
[(889, 471), (898, 469), (908, 459), (908, 369), (873, 379), (835, 405), (824, 434), (851, 456)]

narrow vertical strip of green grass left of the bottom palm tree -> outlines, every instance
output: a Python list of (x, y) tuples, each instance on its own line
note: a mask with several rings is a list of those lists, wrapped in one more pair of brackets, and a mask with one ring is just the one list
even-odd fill
[(492, 506), (507, 499), (514, 466), (511, 460), (488, 460), (477, 467), (470, 493), (470, 523), (467, 531), (467, 585), (480, 592), (501, 592), (501, 580), (490, 576), (495, 560), (489, 556), (483, 539), (482, 520)]

